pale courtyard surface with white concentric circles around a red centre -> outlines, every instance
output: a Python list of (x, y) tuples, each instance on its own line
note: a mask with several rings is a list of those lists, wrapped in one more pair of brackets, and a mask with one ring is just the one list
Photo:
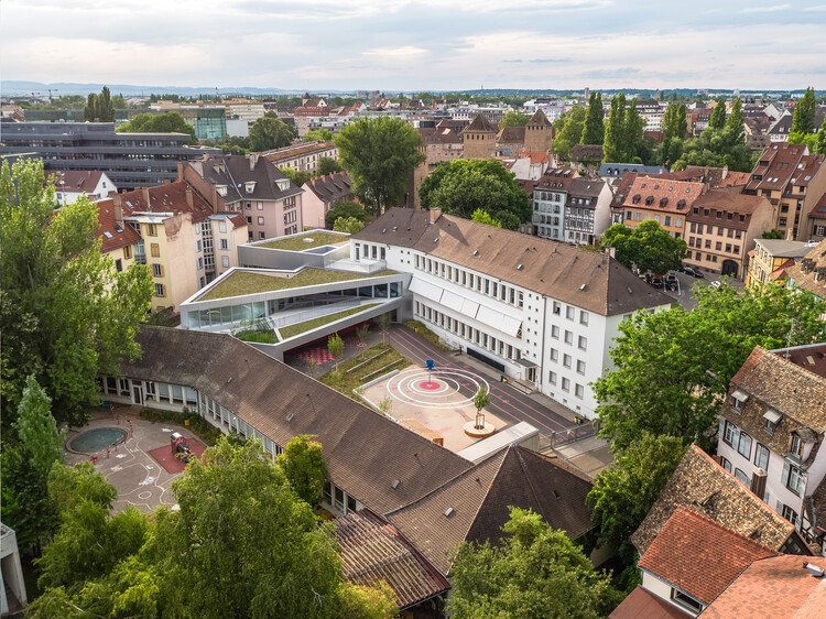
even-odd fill
[[(369, 383), (368, 383), (369, 384)], [(480, 387), (490, 391), (488, 381), (466, 369), (410, 366), (393, 376), (361, 389), (373, 408), (414, 432), (458, 452), (479, 441), (465, 432), (476, 420), (474, 395)], [(383, 404), (382, 404), (383, 403)], [(502, 430), (507, 422), (485, 412), (486, 426)]]

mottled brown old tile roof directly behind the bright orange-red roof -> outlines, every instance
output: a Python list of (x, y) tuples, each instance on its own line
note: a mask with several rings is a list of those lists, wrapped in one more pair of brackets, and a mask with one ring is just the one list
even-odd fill
[(631, 535), (631, 542), (641, 554), (649, 550), (680, 506), (772, 550), (784, 552), (793, 546), (796, 552), (808, 552), (791, 522), (778, 515), (696, 445), (686, 449), (654, 507)]

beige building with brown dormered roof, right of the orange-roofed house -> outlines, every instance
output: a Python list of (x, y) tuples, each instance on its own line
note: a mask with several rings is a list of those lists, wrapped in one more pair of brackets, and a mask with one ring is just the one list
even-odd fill
[(772, 207), (763, 196), (709, 189), (686, 217), (685, 263), (713, 273), (745, 279), (749, 252), (772, 226)]

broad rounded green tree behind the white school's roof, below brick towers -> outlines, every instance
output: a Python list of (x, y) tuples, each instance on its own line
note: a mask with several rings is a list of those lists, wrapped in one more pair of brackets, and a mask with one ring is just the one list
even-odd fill
[(494, 160), (454, 160), (441, 163), (419, 192), (423, 208), (466, 219), (481, 209), (502, 227), (514, 230), (531, 218), (531, 198), (512, 172)]

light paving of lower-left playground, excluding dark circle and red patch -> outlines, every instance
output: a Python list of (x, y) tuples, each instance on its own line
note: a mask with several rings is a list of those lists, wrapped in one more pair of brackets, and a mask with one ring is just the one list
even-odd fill
[(133, 506), (150, 512), (157, 506), (173, 506), (172, 481), (181, 473), (167, 473), (149, 452), (159, 447), (170, 448), (170, 435), (178, 432), (188, 439), (194, 452), (203, 453), (204, 445), (183, 426), (151, 422), (138, 416), (138, 406), (116, 406), (113, 411), (95, 410), (89, 424), (69, 430), (66, 443), (89, 430), (117, 427), (127, 432), (123, 443), (95, 454), (78, 454), (66, 449), (66, 464), (95, 461), (95, 468), (117, 488), (115, 511)]

